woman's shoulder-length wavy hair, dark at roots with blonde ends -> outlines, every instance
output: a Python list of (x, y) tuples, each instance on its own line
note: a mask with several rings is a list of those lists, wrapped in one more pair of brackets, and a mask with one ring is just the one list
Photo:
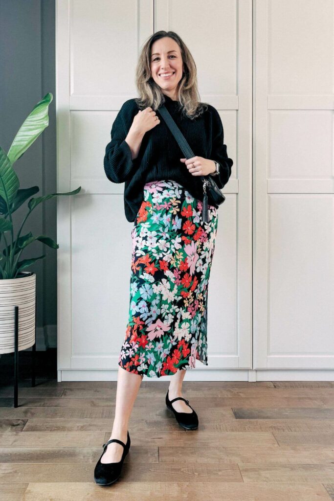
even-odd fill
[(184, 73), (178, 85), (178, 97), (182, 113), (190, 119), (197, 118), (207, 109), (207, 103), (201, 103), (197, 89), (197, 69), (194, 58), (181, 38), (173, 31), (158, 31), (145, 42), (137, 64), (136, 86), (139, 98), (135, 98), (140, 109), (150, 106), (156, 111), (165, 102), (164, 94), (153, 80), (150, 68), (151, 48), (156, 40), (170, 37), (178, 44), (181, 51)]

